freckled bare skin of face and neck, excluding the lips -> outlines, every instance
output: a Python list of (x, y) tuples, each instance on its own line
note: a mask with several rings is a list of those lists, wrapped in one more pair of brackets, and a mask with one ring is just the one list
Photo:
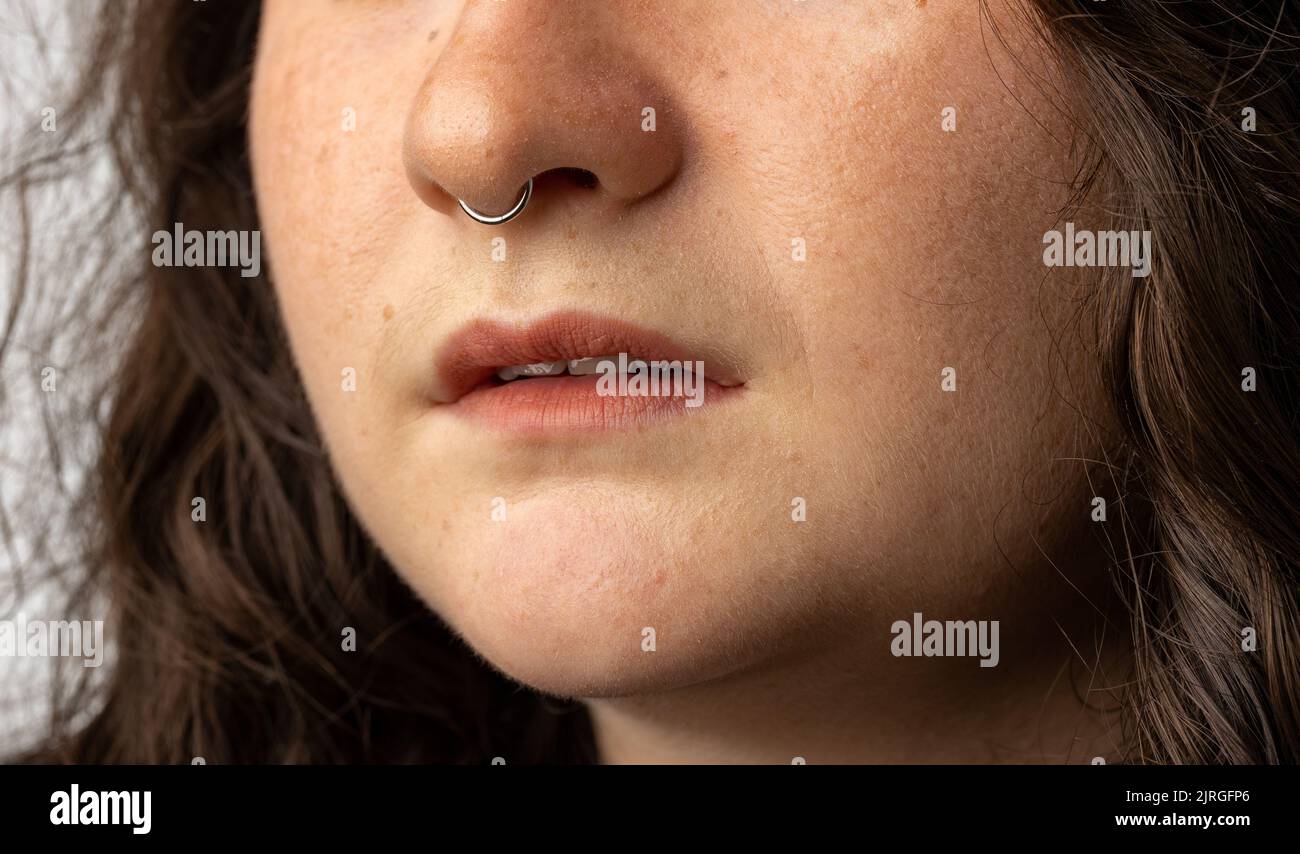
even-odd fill
[[(1072, 164), (1018, 12), (1002, 47), (956, 1), (266, 4), (264, 244), (342, 487), (488, 662), (588, 702), (603, 760), (1110, 750), (1076, 695), (1113, 656), (1080, 461), (1110, 425), (1041, 261)], [(530, 175), (506, 226), (456, 207)], [(742, 394), (578, 437), (430, 404), (465, 322), (562, 308), (708, 341)], [(1000, 664), (892, 655), (916, 611), (998, 620)]]

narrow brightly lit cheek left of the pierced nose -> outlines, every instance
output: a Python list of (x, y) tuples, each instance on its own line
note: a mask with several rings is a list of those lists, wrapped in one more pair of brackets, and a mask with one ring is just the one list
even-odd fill
[[(346, 21), (343, 21), (346, 23)], [(399, 294), (376, 274), (412, 204), (407, 104), (373, 48), (272, 4), (252, 83), (250, 148), (264, 244), (294, 356), (332, 445), (360, 435), (382, 329)], [(389, 86), (377, 79), (385, 71)], [(381, 94), (376, 94), (381, 92)], [(416, 203), (417, 204), (417, 203)]]

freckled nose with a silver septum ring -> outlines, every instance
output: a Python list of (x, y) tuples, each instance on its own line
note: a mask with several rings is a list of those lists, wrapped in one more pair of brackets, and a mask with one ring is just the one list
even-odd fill
[(445, 213), (463, 200), (497, 214), (533, 178), (529, 218), (562, 204), (614, 214), (671, 183), (680, 117), (645, 61), (611, 35), (630, 26), (616, 19), (620, 5), (469, 0), (404, 129), (420, 199)]

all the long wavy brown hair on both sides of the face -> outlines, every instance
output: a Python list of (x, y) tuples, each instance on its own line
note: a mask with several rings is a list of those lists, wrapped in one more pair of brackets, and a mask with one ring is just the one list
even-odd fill
[[(1149, 278), (1098, 289), (1092, 307), (1126, 432), (1112, 458), (1127, 510), (1114, 571), (1134, 625), (1135, 762), (1300, 755), (1300, 325), (1286, 290), (1300, 272), (1300, 140), (1287, 123), (1300, 116), (1300, 32), (1284, 3), (1242, 5), (1030, 4), (1076, 87), (1061, 103), (1079, 198), (1105, 199), (1156, 247)], [(57, 396), (96, 463), (66, 504), (77, 554), (56, 560), (46, 542), (38, 556), (65, 582), (66, 614), (109, 603), (114, 660), (101, 680), (79, 667), (56, 680), (27, 759), (592, 762), (581, 707), (497, 675), (360, 530), (265, 278), (144, 260), (139, 235), (174, 222), (257, 227), (246, 144), (257, 16), (256, 3), (116, 4), (57, 140), (0, 183), (30, 247), (36, 188), (104, 146), (114, 165), (90, 256), (103, 286), (53, 289), (69, 303), (23, 309), (43, 298), (26, 286), (25, 250), (0, 339), (13, 370), (20, 321), (57, 312), (72, 320), (30, 348), (109, 365), (94, 394)], [(1242, 129), (1243, 108), (1257, 131)], [(1239, 387), (1247, 367), (1253, 394)], [(221, 508), (203, 525), (199, 497)], [(0, 508), (6, 539), (35, 506)], [(342, 651), (347, 627), (361, 651)], [(1256, 653), (1240, 647), (1245, 627)]]

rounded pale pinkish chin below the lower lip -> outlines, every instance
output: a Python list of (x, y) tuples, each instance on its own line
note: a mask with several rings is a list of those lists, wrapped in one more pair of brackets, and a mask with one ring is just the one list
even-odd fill
[(727, 563), (723, 532), (672, 528), (627, 502), (508, 513), (450, 532), (455, 550), (438, 560), (450, 573), (399, 572), (511, 679), (559, 697), (645, 694), (723, 676), (758, 647), (753, 621), (771, 614), (736, 585), (762, 573)]

